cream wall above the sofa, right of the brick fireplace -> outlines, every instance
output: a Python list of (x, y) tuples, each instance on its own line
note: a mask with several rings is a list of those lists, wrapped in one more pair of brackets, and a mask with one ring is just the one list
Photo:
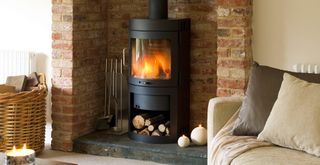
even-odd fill
[(254, 0), (253, 57), (292, 70), (320, 64), (320, 0)]

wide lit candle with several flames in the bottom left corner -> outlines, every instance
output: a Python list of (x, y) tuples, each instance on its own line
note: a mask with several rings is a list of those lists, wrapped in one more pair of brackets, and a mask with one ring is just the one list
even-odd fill
[(34, 150), (27, 149), (26, 144), (22, 149), (13, 149), (6, 152), (5, 165), (34, 165), (35, 164)]

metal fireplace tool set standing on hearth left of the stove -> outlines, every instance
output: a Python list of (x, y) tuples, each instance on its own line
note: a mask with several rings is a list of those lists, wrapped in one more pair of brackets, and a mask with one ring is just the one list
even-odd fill
[(125, 51), (122, 59), (106, 58), (105, 106), (103, 117), (97, 122), (97, 130), (121, 135), (127, 132), (127, 69)]

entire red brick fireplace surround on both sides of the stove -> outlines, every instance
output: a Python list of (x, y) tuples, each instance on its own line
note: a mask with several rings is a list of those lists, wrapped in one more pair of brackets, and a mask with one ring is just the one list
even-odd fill
[[(147, 0), (52, 0), (52, 148), (94, 130), (104, 106), (104, 59), (128, 46), (128, 20)], [(191, 18), (190, 126), (206, 124), (208, 100), (243, 95), (251, 54), (252, 0), (169, 0)]]

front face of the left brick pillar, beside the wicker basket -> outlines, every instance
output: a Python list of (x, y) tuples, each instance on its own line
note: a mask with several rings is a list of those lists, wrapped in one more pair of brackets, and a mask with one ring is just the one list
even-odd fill
[(72, 139), (71, 113), (66, 113), (74, 106), (72, 95), (73, 45), (72, 18), (73, 6), (59, 0), (52, 1), (52, 147), (67, 150)]

